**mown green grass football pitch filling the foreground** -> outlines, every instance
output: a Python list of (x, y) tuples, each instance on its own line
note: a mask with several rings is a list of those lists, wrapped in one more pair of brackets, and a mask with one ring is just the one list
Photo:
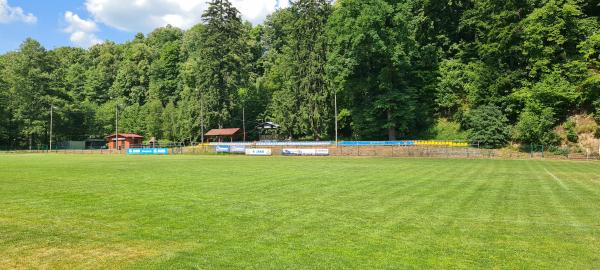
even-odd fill
[(598, 269), (600, 164), (0, 155), (0, 268)]

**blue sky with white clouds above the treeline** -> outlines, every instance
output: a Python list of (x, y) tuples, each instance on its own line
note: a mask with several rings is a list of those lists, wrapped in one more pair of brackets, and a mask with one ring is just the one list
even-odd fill
[[(171, 24), (187, 29), (200, 21), (207, 0), (0, 0), (0, 53), (27, 37), (47, 49), (123, 42), (135, 33)], [(232, 0), (242, 16), (261, 23), (287, 0)]]

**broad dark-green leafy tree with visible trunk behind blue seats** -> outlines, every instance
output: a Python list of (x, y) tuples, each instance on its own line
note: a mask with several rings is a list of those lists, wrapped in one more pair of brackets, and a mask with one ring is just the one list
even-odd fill
[(410, 10), (409, 3), (345, 0), (329, 22), (328, 73), (357, 137), (395, 140), (414, 130), (419, 50)]

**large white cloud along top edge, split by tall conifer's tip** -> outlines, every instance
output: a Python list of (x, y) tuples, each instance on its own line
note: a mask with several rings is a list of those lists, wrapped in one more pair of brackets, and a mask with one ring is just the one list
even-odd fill
[[(207, 0), (86, 0), (85, 6), (97, 22), (129, 31), (149, 32), (167, 24), (188, 29), (199, 23)], [(242, 16), (260, 23), (288, 0), (232, 0)]]

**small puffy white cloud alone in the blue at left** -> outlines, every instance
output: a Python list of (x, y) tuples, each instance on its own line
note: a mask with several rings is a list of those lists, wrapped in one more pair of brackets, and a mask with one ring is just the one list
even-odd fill
[(63, 30), (71, 34), (69, 39), (74, 44), (82, 47), (90, 47), (102, 43), (102, 40), (95, 34), (98, 32), (98, 25), (94, 21), (84, 20), (71, 11), (65, 12), (65, 21), (67, 22), (67, 27)]

